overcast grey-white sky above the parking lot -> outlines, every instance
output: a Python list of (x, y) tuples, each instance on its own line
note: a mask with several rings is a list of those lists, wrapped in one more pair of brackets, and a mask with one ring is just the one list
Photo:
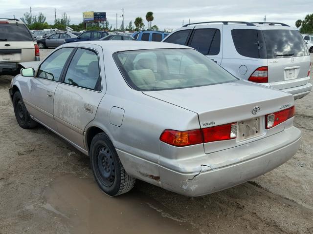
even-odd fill
[(70, 16), (70, 23), (82, 22), (82, 12), (107, 12), (107, 19), (115, 27), (116, 13), (118, 27), (122, 23), (124, 8), (125, 25), (136, 17), (142, 17), (148, 11), (154, 13), (156, 24), (160, 29), (179, 28), (182, 20), (187, 23), (216, 20), (243, 20), (284, 22), (294, 26), (298, 19), (303, 20), (312, 14), (313, 0), (0, 0), (0, 18), (21, 18), (23, 13), (32, 8), (32, 14), (44, 13), (46, 21), (53, 24), (54, 8), (57, 18), (63, 12)]

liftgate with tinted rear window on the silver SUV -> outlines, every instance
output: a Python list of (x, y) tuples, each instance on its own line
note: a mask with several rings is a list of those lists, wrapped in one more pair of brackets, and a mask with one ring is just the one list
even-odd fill
[(262, 30), (268, 58), (268, 82), (286, 81), (279, 87), (287, 89), (305, 85), (310, 67), (310, 55), (301, 34), (297, 30)]

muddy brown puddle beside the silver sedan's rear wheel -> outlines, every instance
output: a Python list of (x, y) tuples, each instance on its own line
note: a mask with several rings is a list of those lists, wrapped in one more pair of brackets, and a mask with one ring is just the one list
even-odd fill
[(139, 191), (109, 197), (91, 178), (57, 177), (45, 189), (46, 210), (75, 234), (190, 234), (191, 224)]

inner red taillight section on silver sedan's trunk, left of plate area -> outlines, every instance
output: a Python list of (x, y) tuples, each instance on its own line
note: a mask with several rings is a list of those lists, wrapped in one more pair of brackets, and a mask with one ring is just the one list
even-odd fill
[(237, 137), (237, 123), (228, 123), (202, 129), (203, 141), (212, 142), (219, 140), (229, 140)]

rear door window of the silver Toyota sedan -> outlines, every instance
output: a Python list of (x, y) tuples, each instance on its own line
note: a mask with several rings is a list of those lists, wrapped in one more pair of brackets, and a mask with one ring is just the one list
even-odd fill
[(99, 59), (94, 51), (79, 48), (71, 60), (64, 83), (100, 91)]

